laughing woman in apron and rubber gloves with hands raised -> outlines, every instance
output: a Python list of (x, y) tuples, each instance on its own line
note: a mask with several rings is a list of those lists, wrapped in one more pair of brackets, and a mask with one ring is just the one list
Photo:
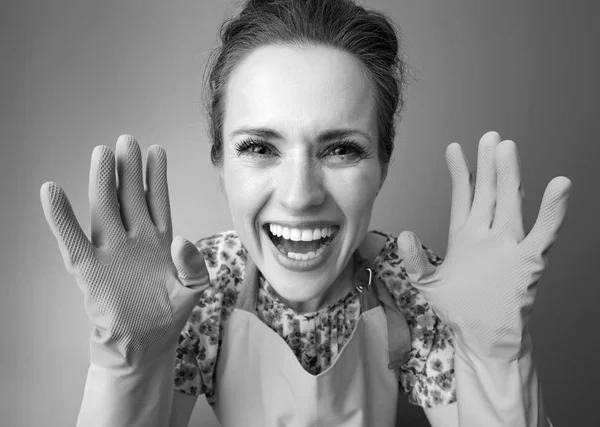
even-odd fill
[[(172, 239), (166, 154), (92, 154), (91, 242), (42, 204), (95, 328), (79, 425), (394, 425), (398, 383), (434, 426), (549, 425), (526, 328), (570, 182), (525, 236), (516, 147), (458, 144), (446, 260), (368, 233), (404, 64), (390, 22), (343, 0), (248, 1), (208, 80), (212, 159), (235, 232)], [(207, 268), (208, 267), (208, 268)], [(438, 317), (439, 316), (439, 317)], [(173, 392), (175, 382), (176, 392)]]

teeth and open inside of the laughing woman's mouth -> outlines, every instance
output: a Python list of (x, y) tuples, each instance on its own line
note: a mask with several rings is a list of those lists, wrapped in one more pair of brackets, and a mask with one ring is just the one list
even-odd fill
[(265, 231), (279, 252), (296, 260), (308, 260), (321, 255), (338, 230), (338, 226), (298, 229), (265, 224)]

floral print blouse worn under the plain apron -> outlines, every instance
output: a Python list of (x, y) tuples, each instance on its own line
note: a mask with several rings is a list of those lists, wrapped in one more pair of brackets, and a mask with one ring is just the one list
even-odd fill
[[(410, 403), (425, 407), (456, 401), (452, 330), (442, 323), (413, 288), (398, 255), (396, 239), (388, 234), (375, 258), (375, 274), (387, 285), (411, 330), (409, 361), (399, 368), (401, 389)], [(196, 243), (204, 255), (211, 286), (194, 307), (180, 336), (175, 366), (175, 390), (216, 403), (214, 375), (221, 333), (233, 310), (244, 276), (246, 251), (235, 231), (225, 231)], [(429, 260), (441, 259), (427, 250)], [(298, 361), (316, 375), (327, 369), (350, 338), (361, 313), (359, 293), (313, 313), (296, 313), (285, 306), (260, 277), (257, 316), (290, 346)]]

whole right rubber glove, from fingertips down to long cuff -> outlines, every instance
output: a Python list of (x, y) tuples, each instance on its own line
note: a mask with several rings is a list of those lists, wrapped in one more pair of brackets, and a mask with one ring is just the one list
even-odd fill
[(409, 282), (455, 333), (459, 425), (546, 425), (527, 322), (546, 255), (565, 217), (571, 182), (554, 178), (525, 235), (520, 163), (512, 141), (488, 132), (477, 183), (459, 144), (446, 151), (452, 177), (448, 249), (429, 263), (411, 232), (398, 237)]

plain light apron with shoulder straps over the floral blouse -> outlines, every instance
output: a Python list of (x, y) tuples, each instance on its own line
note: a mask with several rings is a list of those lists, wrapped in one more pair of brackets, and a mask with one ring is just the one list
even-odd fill
[(216, 366), (214, 410), (223, 427), (396, 425), (397, 368), (408, 360), (410, 331), (358, 251), (354, 262), (362, 313), (332, 365), (312, 375), (254, 314), (259, 279), (248, 258)]

